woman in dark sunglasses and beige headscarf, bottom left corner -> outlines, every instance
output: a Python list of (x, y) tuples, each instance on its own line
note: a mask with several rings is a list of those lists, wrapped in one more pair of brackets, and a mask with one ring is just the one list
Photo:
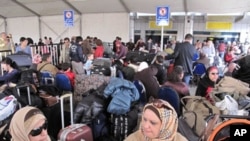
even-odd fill
[(51, 141), (43, 113), (31, 106), (19, 109), (12, 117), (9, 131), (12, 141)]

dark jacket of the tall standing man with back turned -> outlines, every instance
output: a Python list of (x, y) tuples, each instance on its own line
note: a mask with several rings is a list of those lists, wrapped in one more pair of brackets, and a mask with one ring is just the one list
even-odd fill
[(174, 53), (166, 56), (166, 59), (175, 59), (174, 65), (180, 65), (183, 67), (185, 73), (193, 74), (193, 56), (197, 53), (197, 50), (189, 42), (183, 42), (176, 44)]

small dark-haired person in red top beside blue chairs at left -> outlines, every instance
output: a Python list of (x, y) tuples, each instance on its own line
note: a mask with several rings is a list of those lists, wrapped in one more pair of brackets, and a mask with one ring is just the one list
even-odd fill
[(66, 74), (66, 76), (69, 78), (72, 88), (74, 88), (75, 73), (72, 72), (70, 63), (63, 63), (61, 67), (62, 67), (63, 73)]

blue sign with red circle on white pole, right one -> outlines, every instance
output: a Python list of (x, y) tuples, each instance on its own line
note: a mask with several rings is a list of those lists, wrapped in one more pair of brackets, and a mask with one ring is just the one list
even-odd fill
[(156, 8), (156, 24), (159, 26), (167, 26), (169, 24), (170, 10), (169, 7)]

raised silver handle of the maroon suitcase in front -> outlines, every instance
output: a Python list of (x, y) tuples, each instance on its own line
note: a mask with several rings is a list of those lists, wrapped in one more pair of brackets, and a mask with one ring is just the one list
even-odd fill
[(65, 98), (70, 99), (70, 123), (73, 125), (73, 96), (72, 93), (64, 94), (60, 97), (60, 105), (61, 105), (61, 118), (62, 118), (62, 128), (64, 128), (64, 107), (63, 102)]

